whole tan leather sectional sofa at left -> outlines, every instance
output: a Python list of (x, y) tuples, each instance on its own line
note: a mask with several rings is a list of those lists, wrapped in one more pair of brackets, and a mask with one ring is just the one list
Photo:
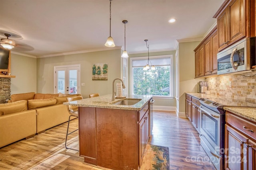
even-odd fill
[(70, 114), (62, 103), (78, 95), (12, 94), (7, 104), (0, 104), (0, 147), (68, 121)]

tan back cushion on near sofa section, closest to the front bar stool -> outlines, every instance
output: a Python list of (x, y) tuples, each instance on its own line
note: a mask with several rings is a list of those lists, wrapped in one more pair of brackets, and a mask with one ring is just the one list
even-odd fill
[(36, 109), (40, 107), (52, 106), (56, 104), (56, 99), (33, 99), (28, 100), (28, 109)]

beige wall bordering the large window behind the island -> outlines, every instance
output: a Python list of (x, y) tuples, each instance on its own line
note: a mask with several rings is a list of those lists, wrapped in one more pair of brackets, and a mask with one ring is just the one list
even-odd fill
[[(150, 53), (150, 56), (158, 56), (158, 55), (173, 55), (173, 66), (172, 66), (172, 72), (174, 73), (173, 76), (173, 84), (175, 85), (175, 51), (162, 51), (162, 52), (154, 52), (154, 53)], [(130, 73), (130, 58), (132, 57), (147, 57), (148, 53), (138, 53), (138, 54), (129, 54), (129, 73)], [(146, 64), (146, 63), (145, 63)], [(130, 85), (130, 76), (129, 76), (129, 85)], [(175, 86), (174, 86), (175, 89)], [(130, 89), (129, 89), (129, 93), (130, 93)], [(175, 90), (174, 90), (175, 93)], [(175, 96), (175, 94), (174, 94)], [(171, 110), (175, 110), (176, 107), (176, 100), (174, 99), (154, 99), (154, 109), (155, 108), (159, 108), (159, 109), (171, 109)]]

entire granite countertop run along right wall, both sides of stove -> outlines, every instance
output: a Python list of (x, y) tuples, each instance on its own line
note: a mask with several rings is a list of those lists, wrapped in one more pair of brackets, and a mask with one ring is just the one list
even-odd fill
[(218, 102), (224, 105), (223, 109), (227, 110), (235, 115), (244, 117), (251, 121), (256, 122), (256, 103), (249, 103), (244, 100), (227, 99), (226, 96), (211, 95), (204, 93), (186, 92), (186, 94), (193, 96), (194, 98), (206, 98), (214, 102)]

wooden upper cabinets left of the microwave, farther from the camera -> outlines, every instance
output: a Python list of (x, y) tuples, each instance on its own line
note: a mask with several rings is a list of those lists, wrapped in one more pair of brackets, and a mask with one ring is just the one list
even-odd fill
[(218, 34), (215, 27), (196, 47), (195, 77), (217, 73)]

